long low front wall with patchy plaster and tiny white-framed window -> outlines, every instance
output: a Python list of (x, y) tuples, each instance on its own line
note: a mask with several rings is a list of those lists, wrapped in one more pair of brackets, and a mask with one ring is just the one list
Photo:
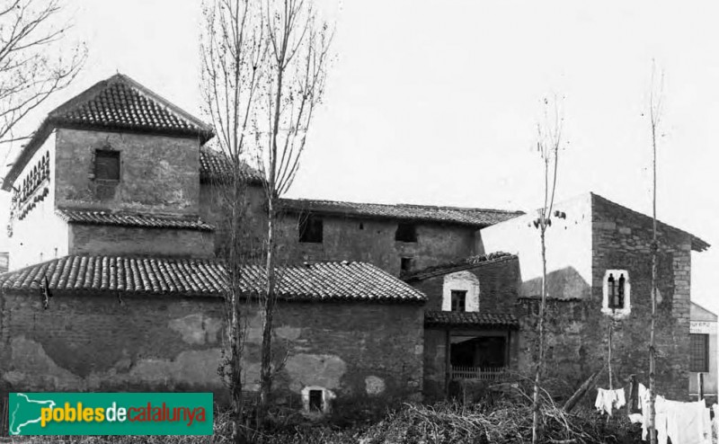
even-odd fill
[[(120, 296), (119, 296), (120, 295)], [(16, 391), (226, 391), (219, 298), (56, 294), (44, 310), (35, 293), (0, 298), (0, 374)], [(245, 384), (257, 389), (262, 316), (246, 307)], [(337, 402), (417, 399), (422, 387), (422, 306), (281, 303), (275, 315), (279, 402), (301, 405), (305, 386)]]

